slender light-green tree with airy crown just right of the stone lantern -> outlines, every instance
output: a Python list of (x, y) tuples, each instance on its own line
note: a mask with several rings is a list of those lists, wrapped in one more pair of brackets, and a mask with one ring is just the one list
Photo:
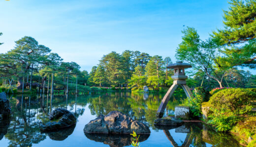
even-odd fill
[(218, 39), (201, 41), (197, 31), (187, 27), (182, 31), (182, 43), (176, 49), (176, 58), (192, 64), (196, 70), (202, 70), (208, 77), (216, 80), (223, 87), (224, 76), (233, 67), (230, 62), (224, 62), (219, 49)]

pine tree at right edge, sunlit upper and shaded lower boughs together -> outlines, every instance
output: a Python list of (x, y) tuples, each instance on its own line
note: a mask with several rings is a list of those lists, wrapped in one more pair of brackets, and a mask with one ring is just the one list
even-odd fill
[(231, 0), (229, 4), (224, 11), (224, 29), (214, 31), (213, 37), (229, 46), (223, 52), (225, 60), (256, 68), (256, 0)]

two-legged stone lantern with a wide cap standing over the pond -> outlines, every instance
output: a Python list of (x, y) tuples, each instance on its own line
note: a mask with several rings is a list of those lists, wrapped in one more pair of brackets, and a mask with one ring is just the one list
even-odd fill
[(192, 98), (192, 92), (190, 90), (190, 88), (188, 87), (188, 85), (186, 84), (186, 79), (188, 78), (187, 75), (185, 75), (185, 69), (187, 68), (191, 68), (192, 66), (188, 63), (182, 63), (182, 62), (177, 62), (174, 64), (170, 64), (167, 66), (167, 68), (169, 69), (174, 69), (174, 75), (171, 76), (171, 78), (174, 80), (173, 84), (171, 85), (170, 89), (167, 91), (167, 93), (165, 94), (165, 96), (163, 97), (161, 104), (158, 108), (158, 113), (157, 116), (159, 118), (162, 117), (164, 109), (171, 97), (171, 95), (174, 93), (174, 91), (176, 90), (176, 88), (181, 85), (182, 88), (184, 89), (186, 95), (188, 98)]

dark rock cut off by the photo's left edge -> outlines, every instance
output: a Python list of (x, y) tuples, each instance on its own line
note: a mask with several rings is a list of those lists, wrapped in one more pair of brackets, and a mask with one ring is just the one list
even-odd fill
[(11, 107), (9, 100), (4, 92), (0, 93), (0, 120), (9, 117), (11, 114)]

